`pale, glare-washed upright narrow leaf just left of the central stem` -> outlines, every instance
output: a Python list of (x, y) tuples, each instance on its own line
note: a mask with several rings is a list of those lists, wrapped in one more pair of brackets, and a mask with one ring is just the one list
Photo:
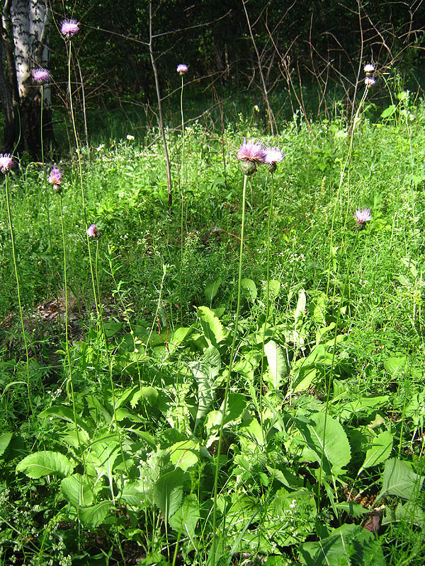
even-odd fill
[(216, 377), (220, 373), (220, 353), (215, 346), (208, 347), (198, 362), (190, 362), (193, 377), (198, 383), (198, 411), (195, 430), (211, 408), (215, 398)]

